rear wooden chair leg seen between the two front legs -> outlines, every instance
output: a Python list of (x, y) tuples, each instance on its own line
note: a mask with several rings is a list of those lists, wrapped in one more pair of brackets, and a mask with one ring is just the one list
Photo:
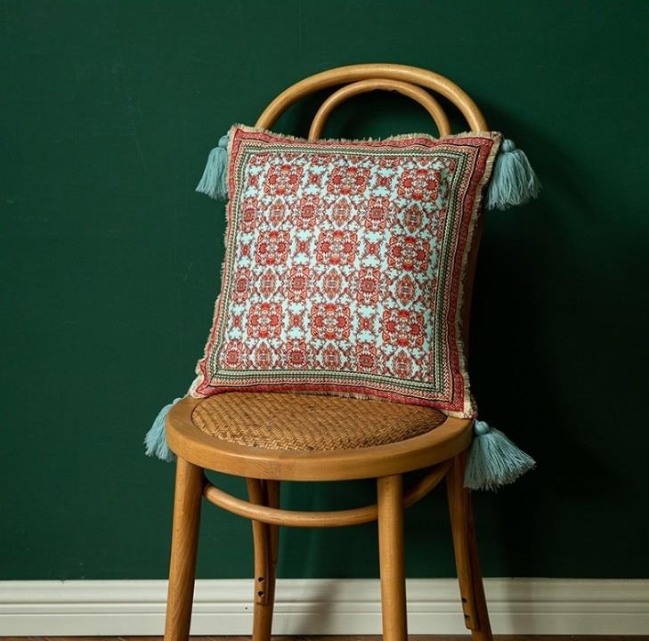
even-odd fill
[[(279, 507), (280, 483), (247, 479), (251, 503)], [(275, 604), (275, 579), (279, 530), (277, 525), (252, 522), (255, 545), (255, 611), (253, 641), (271, 641), (272, 610)]]

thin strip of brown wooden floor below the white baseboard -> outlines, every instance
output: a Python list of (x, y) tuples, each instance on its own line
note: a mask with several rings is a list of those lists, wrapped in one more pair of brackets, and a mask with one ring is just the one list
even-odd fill
[[(0, 641), (158, 641), (162, 637), (0, 637)], [(250, 637), (190, 637), (191, 641), (249, 641)], [(469, 635), (410, 635), (409, 641), (470, 641)], [(625, 637), (623, 635), (602, 636), (548, 636), (548, 635), (496, 635), (495, 641), (649, 641), (649, 635)], [(381, 641), (376, 635), (345, 635), (325, 637), (275, 637), (272, 641)]]

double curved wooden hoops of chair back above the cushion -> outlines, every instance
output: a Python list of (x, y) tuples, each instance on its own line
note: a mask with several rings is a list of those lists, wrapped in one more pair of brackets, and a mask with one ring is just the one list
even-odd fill
[(304, 96), (331, 86), (345, 84), (348, 86), (329, 96), (329, 99), (320, 107), (313, 120), (312, 133), (314, 136), (312, 137), (310, 134), (311, 140), (319, 137), (329, 113), (337, 104), (353, 95), (374, 89), (397, 91), (418, 101), (434, 118), (441, 135), (450, 133), (448, 119), (443, 114), (439, 103), (420, 87), (439, 93), (452, 102), (466, 119), (471, 131), (487, 131), (488, 129), (483, 114), (475, 102), (448, 78), (427, 69), (383, 63), (338, 67), (304, 78), (280, 93), (257, 119), (256, 126), (262, 129), (271, 129), (280, 115)]

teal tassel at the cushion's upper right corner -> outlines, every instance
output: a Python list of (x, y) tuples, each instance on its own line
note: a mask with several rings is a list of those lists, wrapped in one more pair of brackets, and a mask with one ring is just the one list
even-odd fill
[(540, 183), (530, 161), (514, 142), (500, 146), (487, 191), (487, 209), (508, 209), (539, 196)]

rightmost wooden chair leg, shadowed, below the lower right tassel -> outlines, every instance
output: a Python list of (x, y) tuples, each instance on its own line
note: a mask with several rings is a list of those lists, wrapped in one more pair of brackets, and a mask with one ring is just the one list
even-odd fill
[(459, 591), (466, 628), (473, 641), (492, 641), (487, 602), (484, 598), (471, 492), (464, 488), (466, 454), (455, 458), (446, 476), (449, 496), (450, 527), (458, 568)]

